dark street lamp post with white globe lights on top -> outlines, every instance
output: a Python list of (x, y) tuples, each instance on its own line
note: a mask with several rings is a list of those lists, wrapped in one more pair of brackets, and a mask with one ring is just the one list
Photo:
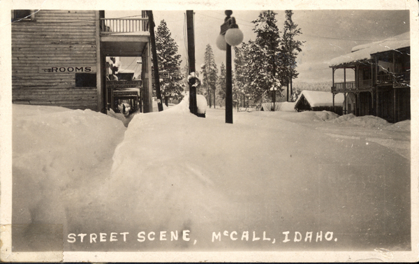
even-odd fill
[(224, 12), (226, 18), (221, 25), (221, 31), (216, 38), (216, 46), (226, 50), (226, 123), (233, 124), (233, 87), (231, 78), (231, 46), (237, 46), (243, 41), (243, 33), (235, 22), (232, 10)]

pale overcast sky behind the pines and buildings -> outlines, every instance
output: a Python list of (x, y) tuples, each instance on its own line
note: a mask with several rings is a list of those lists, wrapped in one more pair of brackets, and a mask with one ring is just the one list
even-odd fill
[[(284, 28), (285, 11), (274, 10), (277, 26)], [(301, 28), (297, 37), (305, 41), (302, 52), (297, 57), (295, 81), (332, 82), (330, 60), (351, 52), (351, 48), (365, 43), (381, 41), (409, 31), (409, 10), (294, 10), (293, 21)], [(156, 27), (165, 20), (172, 38), (179, 45), (182, 55), (182, 67), (186, 64), (187, 43), (184, 10), (153, 10)], [(216, 37), (223, 24), (223, 10), (195, 10), (194, 34), (196, 68), (203, 64), (205, 47), (210, 44), (214, 52), (216, 65), (226, 64), (226, 53), (216, 47)], [(244, 42), (254, 41), (253, 20), (258, 18), (260, 10), (233, 10), (237, 24), (244, 34)], [(124, 17), (139, 15), (139, 11), (107, 11), (105, 17)], [(234, 52), (233, 52), (234, 57)], [(132, 62), (133, 60), (131, 60)], [(128, 65), (131, 64), (128, 62)], [(135, 61), (134, 61), (135, 63)], [(123, 67), (124, 68), (124, 67)], [(343, 78), (343, 71), (336, 72), (335, 80)], [(347, 73), (351, 78), (351, 73)]]

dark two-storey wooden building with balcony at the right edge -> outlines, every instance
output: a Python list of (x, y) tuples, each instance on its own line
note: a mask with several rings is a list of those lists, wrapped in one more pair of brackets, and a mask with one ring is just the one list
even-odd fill
[[(346, 104), (344, 112), (392, 123), (410, 119), (410, 59), (410, 32), (353, 47), (330, 62), (332, 93), (353, 98), (353, 107)], [(337, 70), (344, 71), (344, 82), (335, 82)], [(353, 81), (346, 80), (346, 70)]]

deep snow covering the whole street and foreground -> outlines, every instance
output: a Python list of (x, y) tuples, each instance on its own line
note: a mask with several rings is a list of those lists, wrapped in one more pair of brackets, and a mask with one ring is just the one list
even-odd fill
[(13, 223), (76, 251), (410, 249), (410, 121), (233, 115), (13, 105)]

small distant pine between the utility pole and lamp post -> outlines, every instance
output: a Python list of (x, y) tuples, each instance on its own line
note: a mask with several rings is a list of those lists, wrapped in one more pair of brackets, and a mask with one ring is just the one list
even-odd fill
[[(216, 81), (217, 81), (217, 74), (218, 69), (216, 68), (215, 59), (214, 59), (214, 52), (212, 52), (212, 47), (210, 44), (207, 45), (205, 48), (205, 55), (204, 55), (204, 64), (201, 65), (201, 71), (203, 78), (203, 83), (201, 87), (207, 89), (207, 98), (208, 103), (212, 105), (212, 99), (214, 100), (214, 108), (215, 108), (215, 90), (216, 90)], [(214, 96), (212, 96), (214, 94)], [(214, 98), (212, 98), (214, 97)]]

